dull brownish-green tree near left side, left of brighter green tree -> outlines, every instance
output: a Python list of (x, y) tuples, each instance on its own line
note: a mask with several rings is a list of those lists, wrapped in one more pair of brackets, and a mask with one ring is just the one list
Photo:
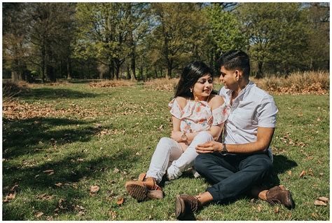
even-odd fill
[(69, 3), (32, 3), (27, 8), (29, 62), (41, 69), (42, 81), (46, 76), (56, 81), (55, 68), (61, 60), (68, 61), (73, 13)]

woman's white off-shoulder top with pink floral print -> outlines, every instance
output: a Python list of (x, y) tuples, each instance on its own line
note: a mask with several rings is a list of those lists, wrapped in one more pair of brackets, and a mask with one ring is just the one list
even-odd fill
[(170, 113), (181, 120), (180, 130), (186, 133), (209, 130), (211, 126), (218, 126), (228, 118), (229, 112), (226, 103), (211, 110), (205, 101), (188, 100), (184, 109), (181, 109), (175, 99), (168, 104), (171, 109)]

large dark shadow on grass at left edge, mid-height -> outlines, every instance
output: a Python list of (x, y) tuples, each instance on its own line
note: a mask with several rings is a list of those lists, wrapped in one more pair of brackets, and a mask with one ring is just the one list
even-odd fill
[(91, 121), (39, 117), (18, 121), (3, 119), (3, 158), (38, 153), (46, 147), (56, 149), (59, 144), (88, 142), (99, 128), (85, 126), (87, 124), (91, 125)]

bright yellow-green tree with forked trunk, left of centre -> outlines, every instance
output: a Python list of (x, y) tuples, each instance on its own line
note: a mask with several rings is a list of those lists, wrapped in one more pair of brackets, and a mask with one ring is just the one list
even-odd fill
[(130, 3), (78, 4), (76, 19), (80, 29), (76, 42), (76, 57), (95, 58), (109, 66), (109, 77), (116, 79), (120, 67), (130, 55)]

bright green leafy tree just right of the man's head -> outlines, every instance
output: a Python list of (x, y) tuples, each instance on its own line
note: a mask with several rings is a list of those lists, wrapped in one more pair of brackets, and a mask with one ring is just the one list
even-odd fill
[(263, 77), (264, 64), (286, 75), (301, 67), (309, 31), (300, 6), (297, 3), (249, 3), (237, 8), (246, 27), (249, 54), (258, 64), (257, 78)]

